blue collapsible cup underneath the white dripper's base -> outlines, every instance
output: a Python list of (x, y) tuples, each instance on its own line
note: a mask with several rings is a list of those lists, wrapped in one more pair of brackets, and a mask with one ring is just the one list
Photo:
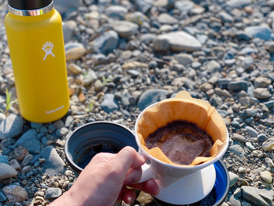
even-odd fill
[[(229, 183), (230, 183), (229, 173), (225, 164), (221, 160), (218, 160), (213, 165), (216, 171), (216, 181), (213, 187), (213, 190), (215, 191), (216, 199), (215, 199), (215, 204), (213, 206), (221, 206), (224, 203), (229, 190)], [(182, 187), (187, 187), (187, 186), (182, 186)], [(154, 197), (153, 197), (153, 200), (157, 204), (157, 206), (179, 206), (179, 205), (164, 203)]]

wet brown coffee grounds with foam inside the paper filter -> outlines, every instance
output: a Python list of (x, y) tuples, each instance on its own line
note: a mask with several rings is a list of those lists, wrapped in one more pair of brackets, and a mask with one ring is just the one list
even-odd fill
[(210, 157), (214, 142), (196, 124), (176, 120), (158, 128), (145, 140), (148, 149), (159, 147), (173, 163), (189, 165), (196, 157)]

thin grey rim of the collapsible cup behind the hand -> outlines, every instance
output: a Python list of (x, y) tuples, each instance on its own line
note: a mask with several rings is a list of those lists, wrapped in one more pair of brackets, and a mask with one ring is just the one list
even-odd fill
[(90, 122), (90, 123), (87, 123), (87, 124), (84, 124), (80, 127), (78, 127), (77, 129), (73, 130), (72, 132), (69, 133), (69, 135), (67, 136), (67, 139), (66, 139), (66, 143), (65, 143), (65, 157), (66, 157), (66, 160), (68, 162), (68, 164), (70, 165), (70, 167), (75, 170), (75, 171), (80, 171), (82, 172), (84, 169), (83, 168), (80, 168), (79, 166), (77, 166), (73, 160), (70, 158), (69, 156), (69, 151), (68, 151), (68, 144), (69, 144), (69, 140), (70, 138), (72, 138), (72, 136), (74, 135), (74, 133), (76, 133), (77, 131), (81, 130), (82, 128), (84, 127), (87, 127), (89, 125), (96, 125), (96, 124), (112, 124), (112, 125), (115, 125), (115, 126), (118, 126), (118, 127), (122, 127), (123, 129), (126, 129), (127, 131), (129, 131), (133, 137), (135, 138), (135, 134), (133, 131), (131, 131), (129, 128), (127, 128), (126, 126), (124, 125), (121, 125), (121, 124), (118, 124), (118, 123), (114, 123), (114, 122), (109, 122), (109, 121), (96, 121), (96, 122)]

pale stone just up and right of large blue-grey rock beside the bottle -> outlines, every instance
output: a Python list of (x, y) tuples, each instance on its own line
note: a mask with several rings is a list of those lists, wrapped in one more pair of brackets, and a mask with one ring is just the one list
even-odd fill
[(112, 23), (113, 29), (119, 33), (122, 38), (127, 38), (134, 35), (139, 26), (130, 21), (115, 21)]

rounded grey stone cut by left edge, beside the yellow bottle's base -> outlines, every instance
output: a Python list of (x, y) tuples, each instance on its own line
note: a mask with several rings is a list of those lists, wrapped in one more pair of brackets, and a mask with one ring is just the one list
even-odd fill
[(23, 119), (17, 115), (10, 114), (0, 123), (0, 140), (14, 138), (23, 130)]

